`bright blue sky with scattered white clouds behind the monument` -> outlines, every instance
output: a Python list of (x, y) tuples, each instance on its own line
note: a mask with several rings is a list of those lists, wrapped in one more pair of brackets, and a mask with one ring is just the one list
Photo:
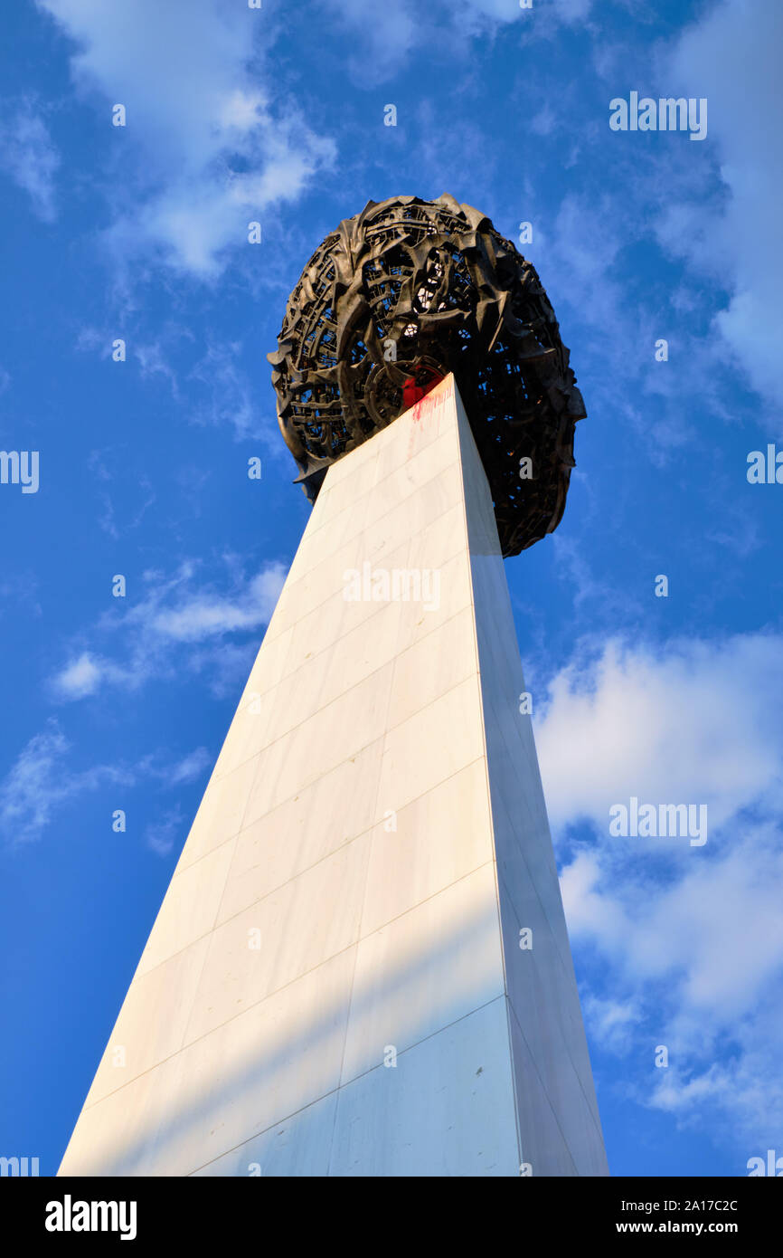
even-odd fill
[[(533, 225), (588, 411), (506, 572), (611, 1170), (783, 1154), (777, 0), (1, 21), (0, 448), (40, 483), (0, 484), (0, 1152), (59, 1164), (307, 521), (285, 298), (367, 200), (449, 191)], [(706, 137), (610, 130), (632, 91)], [(706, 804), (706, 844), (611, 837), (631, 796)]]

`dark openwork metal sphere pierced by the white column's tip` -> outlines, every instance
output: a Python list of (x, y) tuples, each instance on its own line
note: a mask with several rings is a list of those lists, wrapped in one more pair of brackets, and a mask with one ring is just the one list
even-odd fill
[(331, 463), (452, 371), (503, 554), (559, 523), (582, 395), (535, 268), (470, 205), (396, 196), (344, 219), (304, 268), (268, 357), (312, 501)]

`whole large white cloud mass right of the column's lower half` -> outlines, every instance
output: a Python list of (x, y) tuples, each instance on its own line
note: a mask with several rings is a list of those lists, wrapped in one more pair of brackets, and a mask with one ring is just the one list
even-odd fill
[[(742, 1140), (740, 1165), (783, 1123), (782, 699), (780, 635), (612, 642), (554, 678), (537, 726), (556, 829), (589, 825), (562, 889), (591, 1034), (630, 1062), (665, 1044), (667, 1069), (628, 1066), (618, 1086)], [(610, 804), (631, 795), (708, 803), (708, 844), (610, 837)]]

